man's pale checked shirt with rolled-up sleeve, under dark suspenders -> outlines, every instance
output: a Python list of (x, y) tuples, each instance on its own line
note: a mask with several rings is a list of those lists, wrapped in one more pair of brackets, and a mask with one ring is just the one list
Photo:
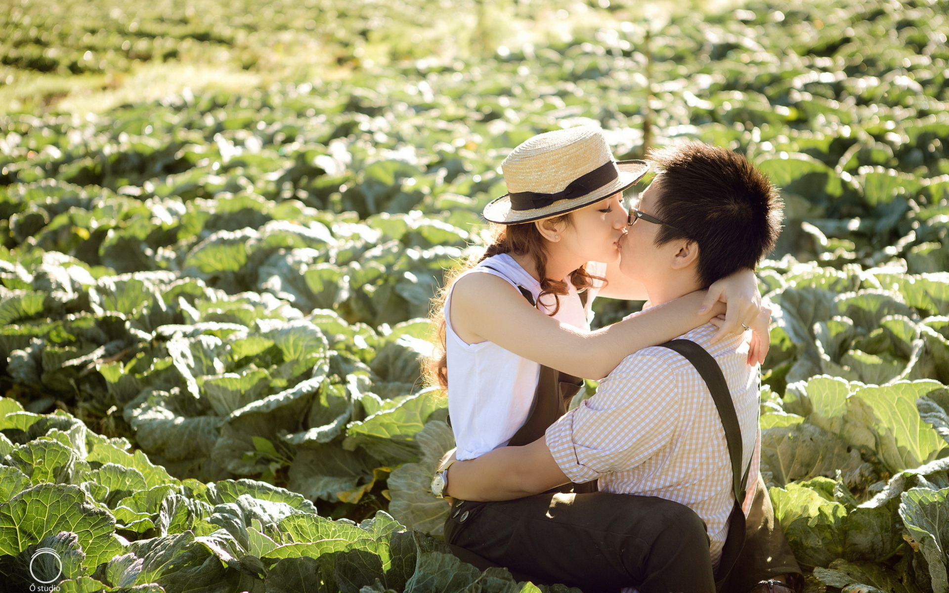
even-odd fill
[[(741, 428), (742, 467), (752, 462), (747, 514), (760, 457), (759, 371), (747, 363), (744, 336), (712, 344), (716, 331), (705, 324), (680, 338), (715, 357), (728, 382)], [(659, 496), (695, 510), (718, 564), (733, 507), (732, 466), (712, 394), (684, 357), (660, 346), (627, 356), (595, 396), (549, 427), (547, 445), (574, 482), (599, 479), (600, 491)]]

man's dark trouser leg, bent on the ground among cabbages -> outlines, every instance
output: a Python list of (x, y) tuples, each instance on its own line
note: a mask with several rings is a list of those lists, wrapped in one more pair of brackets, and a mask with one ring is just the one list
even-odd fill
[(461, 501), (445, 523), (449, 544), (541, 584), (585, 593), (714, 593), (705, 524), (655, 496), (544, 493)]

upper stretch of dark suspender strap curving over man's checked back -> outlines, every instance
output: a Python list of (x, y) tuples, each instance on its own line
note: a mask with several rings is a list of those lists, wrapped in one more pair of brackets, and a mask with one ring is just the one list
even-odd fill
[[(721, 367), (718, 366), (715, 358), (698, 343), (690, 340), (673, 340), (660, 345), (675, 350), (692, 362), (698, 370), (698, 374), (708, 385), (709, 391), (712, 392), (712, 399), (715, 401), (718, 416), (721, 417), (721, 425), (725, 429), (728, 454), (732, 459), (732, 490), (735, 494), (735, 501), (740, 505), (745, 500), (745, 480), (748, 479), (748, 473), (743, 474), (741, 471), (741, 428), (738, 425), (735, 403), (732, 401), (732, 394), (728, 390), (725, 375), (721, 372)], [(750, 469), (751, 466), (749, 465)]]

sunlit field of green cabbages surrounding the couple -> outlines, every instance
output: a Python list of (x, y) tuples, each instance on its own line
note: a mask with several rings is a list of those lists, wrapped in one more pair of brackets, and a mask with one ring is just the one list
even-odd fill
[[(419, 357), (507, 151), (596, 123), (782, 188), (762, 472), (808, 591), (949, 593), (949, 5), (246, 4), (0, 7), (0, 591), (568, 591), (447, 553)], [(109, 90), (201, 59), (251, 83)]]

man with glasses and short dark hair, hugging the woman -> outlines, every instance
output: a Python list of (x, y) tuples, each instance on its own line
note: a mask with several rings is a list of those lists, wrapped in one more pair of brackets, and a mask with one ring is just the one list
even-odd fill
[[(659, 173), (630, 210), (619, 264), (623, 274), (645, 287), (650, 306), (708, 287), (737, 269), (754, 269), (772, 250), (781, 204), (771, 182), (745, 158), (694, 143), (653, 153), (651, 159)], [(718, 565), (716, 581), (733, 565), (742, 573), (731, 577), (728, 590), (746, 593), (757, 575), (771, 579), (799, 573), (773, 517), (755, 515), (769, 515), (771, 506), (757, 472), (759, 373), (746, 362), (748, 334), (713, 343), (715, 333), (716, 327), (707, 324), (679, 339), (698, 344), (721, 369), (727, 385), (716, 391), (730, 396), (734, 405), (730, 429), (723, 428), (725, 416), (715, 400), (720, 396), (710, 392), (704, 371), (700, 374), (691, 359), (670, 347), (644, 348), (626, 357), (601, 381), (596, 395), (551, 425), (545, 437), (452, 464), (447, 492), (461, 502), (446, 523), (449, 543), (541, 582), (563, 582), (568, 572), (576, 574), (551, 562), (551, 556), (563, 553), (564, 539), (587, 554), (595, 548), (600, 556), (590, 565), (643, 562), (651, 549), (616, 548), (648, 544), (635, 534), (617, 540), (608, 519), (583, 515), (585, 497), (596, 493), (549, 492), (571, 481), (598, 480), (600, 491), (642, 496), (645, 518), (653, 497), (698, 513), (713, 565)], [(738, 486), (737, 471), (743, 468), (747, 494), (744, 484)], [(755, 504), (764, 510), (753, 510)], [(767, 537), (735, 552), (726, 545), (730, 526), (738, 525), (735, 513), (742, 515), (741, 541), (746, 522), (764, 525)], [(742, 549), (740, 542), (737, 546)], [(555, 560), (582, 563), (583, 558)], [(635, 566), (631, 572), (636, 573)], [(748, 575), (755, 580), (742, 581)], [(628, 585), (661, 593), (650, 575), (638, 578), (641, 582)]]

